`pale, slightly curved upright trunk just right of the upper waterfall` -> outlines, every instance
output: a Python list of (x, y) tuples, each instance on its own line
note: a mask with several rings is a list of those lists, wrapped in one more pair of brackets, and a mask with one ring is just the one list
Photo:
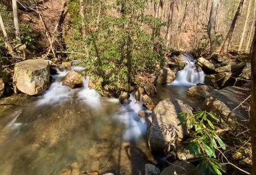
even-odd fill
[(207, 26), (207, 33), (210, 39), (210, 56), (216, 52), (216, 35), (214, 24), (216, 19), (218, 0), (213, 0), (210, 9), (210, 17)]

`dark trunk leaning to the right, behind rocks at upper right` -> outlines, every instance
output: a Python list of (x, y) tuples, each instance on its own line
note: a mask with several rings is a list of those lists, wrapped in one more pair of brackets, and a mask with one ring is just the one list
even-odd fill
[(229, 42), (232, 39), (234, 27), (236, 27), (237, 20), (240, 17), (241, 12), (242, 12), (243, 4), (244, 4), (244, 0), (241, 0), (240, 3), (239, 3), (239, 6), (238, 6), (238, 10), (237, 10), (236, 14), (234, 15), (232, 24), (231, 24), (231, 26), (230, 26), (230, 28), (227, 32), (226, 39), (225, 39), (225, 41), (223, 43), (223, 46), (221, 48), (221, 53), (223, 53), (224, 51), (227, 52), (227, 50), (228, 50)]

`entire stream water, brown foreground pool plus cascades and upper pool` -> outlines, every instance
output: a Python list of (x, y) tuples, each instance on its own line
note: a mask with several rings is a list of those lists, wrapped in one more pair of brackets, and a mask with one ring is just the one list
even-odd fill
[[(196, 71), (194, 58), (186, 58), (174, 82), (157, 86), (151, 96), (156, 104), (177, 98), (201, 107), (186, 91), (203, 83), (204, 73)], [(131, 103), (122, 105), (100, 97), (88, 88), (90, 77), (83, 88), (70, 89), (57, 81), (67, 73), (58, 71), (44, 94), (0, 118), (0, 174), (144, 174), (146, 163), (156, 164), (147, 146), (146, 119), (138, 116), (143, 102), (131, 96)]]

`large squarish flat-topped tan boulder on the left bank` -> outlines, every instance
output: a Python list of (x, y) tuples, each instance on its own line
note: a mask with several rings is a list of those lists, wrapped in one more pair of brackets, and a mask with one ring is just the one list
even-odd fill
[(13, 86), (28, 95), (38, 95), (50, 85), (50, 64), (44, 59), (29, 59), (15, 64)]

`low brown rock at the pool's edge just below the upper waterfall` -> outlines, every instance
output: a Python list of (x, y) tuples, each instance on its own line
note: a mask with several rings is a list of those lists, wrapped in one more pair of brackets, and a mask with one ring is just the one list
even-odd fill
[(211, 86), (195, 85), (188, 89), (187, 96), (204, 100), (212, 91), (214, 91), (214, 88), (212, 88)]

